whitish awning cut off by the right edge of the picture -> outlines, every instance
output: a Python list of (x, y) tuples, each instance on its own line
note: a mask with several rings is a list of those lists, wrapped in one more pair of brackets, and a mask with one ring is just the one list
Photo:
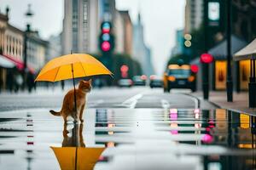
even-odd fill
[(253, 42), (249, 43), (247, 47), (242, 48), (238, 51), (234, 57), (234, 60), (246, 60), (246, 59), (256, 59), (256, 38)]

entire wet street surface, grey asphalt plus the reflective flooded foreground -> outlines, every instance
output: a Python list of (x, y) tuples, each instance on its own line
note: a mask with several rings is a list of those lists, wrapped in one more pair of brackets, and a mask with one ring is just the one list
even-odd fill
[(162, 88), (94, 88), (84, 123), (68, 122), (67, 127), (61, 117), (49, 113), (60, 110), (63, 94), (59, 88), (2, 94), (0, 169), (58, 169), (63, 160), (52, 147), (73, 146), (73, 140), (85, 147), (84, 154), (102, 148), (99, 159), (80, 158), (85, 165), (97, 161), (94, 169), (254, 166), (253, 150), (248, 149), (255, 146), (255, 117), (213, 106), (201, 110), (189, 90), (164, 94)]

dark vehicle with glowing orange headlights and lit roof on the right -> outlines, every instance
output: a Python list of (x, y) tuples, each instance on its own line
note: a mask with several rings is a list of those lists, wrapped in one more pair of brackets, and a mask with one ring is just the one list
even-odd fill
[(196, 74), (191, 71), (190, 65), (168, 65), (164, 75), (164, 91), (172, 88), (189, 88), (196, 90)]

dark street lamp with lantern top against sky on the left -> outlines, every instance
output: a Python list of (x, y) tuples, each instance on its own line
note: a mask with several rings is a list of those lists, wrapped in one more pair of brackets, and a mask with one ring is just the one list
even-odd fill
[(32, 16), (34, 14), (32, 13), (31, 10), (31, 4), (27, 5), (27, 11), (26, 11), (26, 19), (27, 19), (27, 23), (26, 23), (26, 31), (24, 32), (24, 48), (23, 48), (23, 71), (22, 71), (22, 75), (23, 75), (23, 89), (26, 88), (26, 73), (27, 73), (27, 39), (28, 39), (28, 33), (31, 31), (31, 21), (29, 21), (29, 19), (32, 19)]

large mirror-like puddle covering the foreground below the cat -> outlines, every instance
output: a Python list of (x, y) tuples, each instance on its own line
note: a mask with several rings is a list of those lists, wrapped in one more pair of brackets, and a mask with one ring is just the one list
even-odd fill
[(59, 169), (52, 148), (94, 169), (253, 169), (255, 134), (254, 116), (222, 109), (87, 109), (84, 124), (64, 126), (48, 110), (9, 111), (0, 113), (0, 169)]

